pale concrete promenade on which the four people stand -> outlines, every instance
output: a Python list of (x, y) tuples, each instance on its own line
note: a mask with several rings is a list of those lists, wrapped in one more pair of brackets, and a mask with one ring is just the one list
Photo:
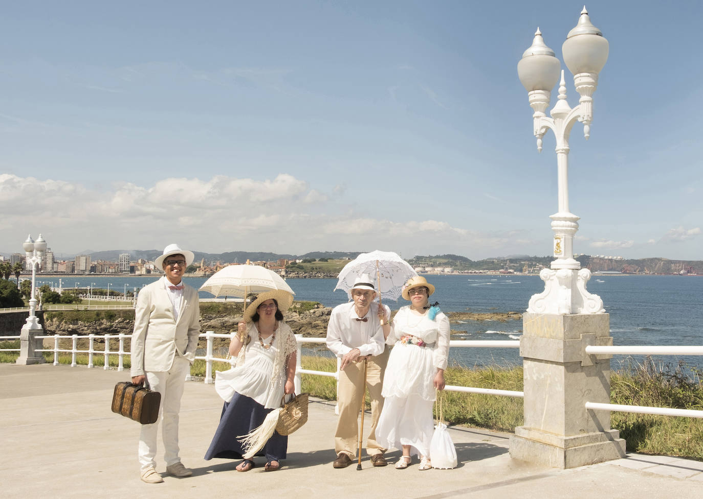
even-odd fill
[[(627, 458), (557, 470), (510, 459), (508, 434), (452, 428), (459, 467), (418, 471), (392, 465), (335, 470), (334, 407), (313, 401), (309, 421), (288, 441), (288, 459), (273, 473), (234, 470), (202, 456), (222, 402), (212, 385), (186, 382), (181, 458), (193, 477), (139, 480), (139, 425), (110, 411), (115, 382), (129, 373), (85, 367), (0, 364), (0, 495), (3, 498), (700, 498), (703, 463), (628, 454)], [(365, 424), (368, 429), (368, 418)], [(165, 472), (162, 446), (157, 470)], [(398, 451), (387, 454), (394, 463)]]

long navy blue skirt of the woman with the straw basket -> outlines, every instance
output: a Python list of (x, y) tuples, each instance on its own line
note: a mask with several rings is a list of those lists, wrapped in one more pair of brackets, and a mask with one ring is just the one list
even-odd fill
[[(242, 459), (244, 450), (238, 436), (245, 435), (264, 423), (266, 414), (273, 411), (267, 409), (250, 397), (234, 393), (229, 402), (225, 402), (220, 415), (220, 423), (212, 437), (210, 448), (205, 453), (205, 460), (212, 458)], [(264, 448), (257, 455), (265, 455), (267, 461), (285, 459), (288, 450), (288, 437), (273, 432)]]

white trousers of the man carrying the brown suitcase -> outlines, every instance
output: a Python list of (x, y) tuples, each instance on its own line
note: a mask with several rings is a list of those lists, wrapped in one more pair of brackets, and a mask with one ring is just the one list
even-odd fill
[(156, 437), (159, 431), (159, 421), (161, 421), (166, 465), (174, 465), (181, 460), (178, 447), (178, 420), (183, 386), (186, 384), (186, 375), (190, 367), (191, 363), (188, 359), (176, 356), (169, 371), (146, 372), (150, 389), (161, 394), (161, 406), (156, 423), (141, 425), (139, 465), (142, 470), (150, 466), (156, 467)]

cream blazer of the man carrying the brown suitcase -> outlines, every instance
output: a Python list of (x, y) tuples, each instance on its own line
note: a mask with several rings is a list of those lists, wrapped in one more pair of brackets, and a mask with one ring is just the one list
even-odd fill
[(183, 283), (183, 300), (176, 321), (165, 279), (145, 286), (139, 293), (131, 337), (132, 376), (142, 375), (144, 371), (169, 371), (176, 353), (193, 363), (200, 334), (198, 291)]

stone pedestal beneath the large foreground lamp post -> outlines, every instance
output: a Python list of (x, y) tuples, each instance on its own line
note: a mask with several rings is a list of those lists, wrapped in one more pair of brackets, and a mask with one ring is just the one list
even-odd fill
[(586, 410), (610, 402), (612, 357), (587, 345), (612, 345), (608, 314), (524, 314), (524, 425), (510, 437), (512, 458), (572, 468), (624, 457), (610, 411)]

